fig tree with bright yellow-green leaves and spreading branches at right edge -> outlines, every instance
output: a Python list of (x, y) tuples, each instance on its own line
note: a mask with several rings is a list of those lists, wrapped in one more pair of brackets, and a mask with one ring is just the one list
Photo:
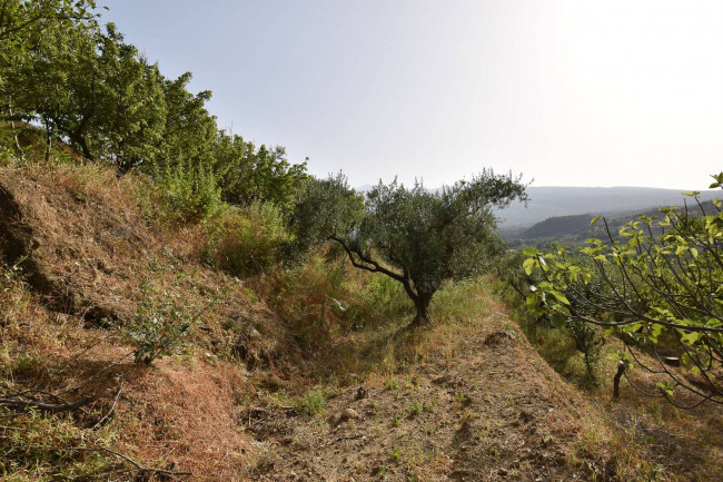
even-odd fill
[[(723, 174), (713, 177), (712, 188), (723, 186)], [(542, 276), (527, 305), (558, 324), (586, 323), (617, 333), (626, 347), (622, 367), (636, 362), (665, 377), (646, 393), (679, 406), (723, 404), (722, 203), (685, 195), (694, 206), (641, 216), (620, 229), (622, 240), (604, 222), (606, 242), (592, 238), (577, 250), (526, 249), (526, 272)], [(644, 362), (642, 351), (655, 366)], [(677, 388), (697, 400), (675, 397)]]

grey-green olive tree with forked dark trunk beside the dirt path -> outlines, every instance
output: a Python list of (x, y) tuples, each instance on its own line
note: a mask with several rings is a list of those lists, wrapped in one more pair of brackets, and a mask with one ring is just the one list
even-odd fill
[(446, 279), (474, 276), (504, 250), (493, 208), (526, 201), (519, 180), (489, 169), (429, 191), (422, 183), (407, 189), (395, 179), (379, 183), (364, 201), (343, 175), (315, 180), (297, 208), (298, 236), (331, 242), (355, 267), (399, 282), (416, 309), (413, 324), (426, 324)]

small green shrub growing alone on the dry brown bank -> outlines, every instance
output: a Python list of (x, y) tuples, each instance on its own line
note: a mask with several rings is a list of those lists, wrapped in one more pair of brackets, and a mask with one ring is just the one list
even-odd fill
[(190, 315), (188, 307), (178, 306), (165, 292), (157, 299), (152, 285), (145, 284), (141, 292), (143, 301), (136, 312), (128, 336), (136, 347), (136, 363), (150, 365), (181, 346), (198, 315)]

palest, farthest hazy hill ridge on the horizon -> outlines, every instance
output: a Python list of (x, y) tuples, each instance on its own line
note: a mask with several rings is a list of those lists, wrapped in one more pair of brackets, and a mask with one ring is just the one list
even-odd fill
[[(527, 207), (515, 203), (498, 213), (505, 229), (519, 230), (544, 219), (571, 215), (620, 215), (661, 206), (682, 206), (685, 189), (651, 187), (529, 187)], [(701, 194), (704, 200), (721, 196), (720, 190)], [(517, 229), (515, 229), (517, 228)]]

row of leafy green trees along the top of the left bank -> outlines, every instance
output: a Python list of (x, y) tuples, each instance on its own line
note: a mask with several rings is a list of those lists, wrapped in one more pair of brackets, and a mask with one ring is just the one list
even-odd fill
[(23, 156), (18, 121), (42, 126), (46, 158), (62, 141), (117, 174), (141, 169), (167, 191), (179, 220), (214, 214), (222, 199), (289, 209), (307, 179), (283, 147), (219, 130), (191, 94), (191, 73), (165, 78), (113, 23), (100, 28), (92, 1), (6, 0), (0, 12), (0, 159)]

